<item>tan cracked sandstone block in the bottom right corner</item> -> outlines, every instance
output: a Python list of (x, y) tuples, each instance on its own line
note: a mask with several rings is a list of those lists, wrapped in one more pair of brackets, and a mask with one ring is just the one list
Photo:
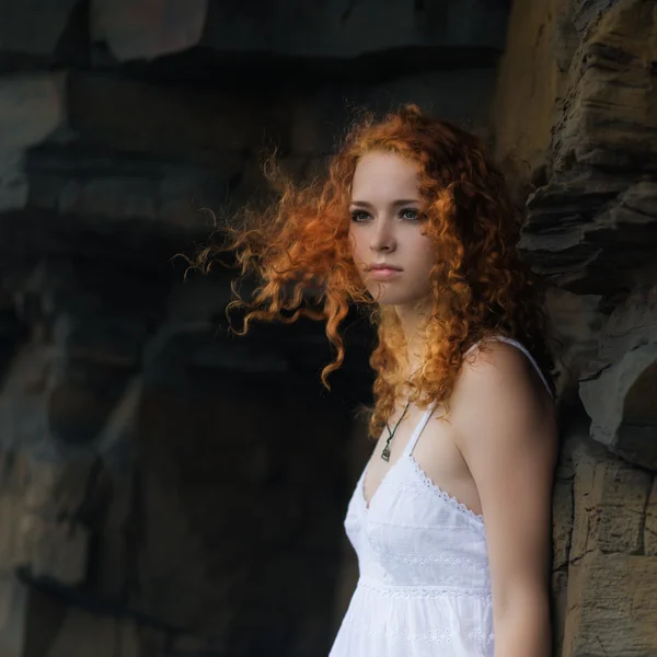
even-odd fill
[(577, 439), (572, 453), (572, 545), (567, 570), (553, 580), (563, 623), (556, 654), (650, 655), (657, 560), (645, 528), (653, 522), (655, 477), (590, 439)]

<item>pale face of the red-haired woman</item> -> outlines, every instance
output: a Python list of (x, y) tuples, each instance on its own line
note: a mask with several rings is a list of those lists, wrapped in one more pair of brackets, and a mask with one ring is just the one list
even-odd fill
[(360, 158), (349, 239), (362, 283), (381, 304), (414, 304), (429, 295), (436, 247), (422, 233), (420, 207), (415, 164), (387, 151)]

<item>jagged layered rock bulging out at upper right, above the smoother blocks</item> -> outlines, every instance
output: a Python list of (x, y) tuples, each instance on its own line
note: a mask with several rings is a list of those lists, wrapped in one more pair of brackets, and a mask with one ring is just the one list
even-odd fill
[[(606, 11), (596, 11), (573, 58), (550, 182), (528, 204), (520, 243), (539, 272), (578, 293), (626, 285), (629, 270), (649, 262), (646, 245), (657, 244), (654, 5), (596, 7)], [(593, 3), (577, 8), (581, 18)]]

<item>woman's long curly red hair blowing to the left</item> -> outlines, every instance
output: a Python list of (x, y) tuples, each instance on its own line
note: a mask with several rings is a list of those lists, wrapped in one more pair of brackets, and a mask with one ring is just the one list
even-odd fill
[[(430, 273), (434, 311), (424, 327), (423, 365), (412, 374), (396, 312), (380, 307), (366, 290), (348, 240), (354, 172), (358, 160), (373, 150), (418, 165), (423, 230), (440, 245)], [(433, 401), (448, 407), (465, 351), (491, 335), (520, 341), (552, 381), (543, 289), (516, 251), (521, 217), (477, 137), (406, 105), (382, 119), (368, 115), (353, 126), (324, 178), (299, 186), (276, 169), (266, 173), (279, 185), (276, 201), (261, 211), (244, 209), (241, 221), (231, 218), (223, 227), (223, 243), (199, 251), (194, 266), (207, 272), (218, 252), (231, 251), (240, 278), (255, 275), (258, 284), (251, 301), (238, 296), (231, 303), (247, 308), (241, 333), (253, 320), (325, 321), (335, 348), (335, 359), (322, 370), (327, 388), (326, 377), (344, 360), (339, 326), (349, 306), (369, 308), (378, 328), (370, 357), (376, 372), (371, 437), (380, 435), (402, 396), (420, 408)]]

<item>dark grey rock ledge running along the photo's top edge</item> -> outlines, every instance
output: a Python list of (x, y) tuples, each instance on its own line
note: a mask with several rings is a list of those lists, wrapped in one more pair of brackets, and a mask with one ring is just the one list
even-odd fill
[[(465, 56), (476, 49), (488, 55), (500, 50), (508, 8), (507, 0), (332, 0), (312, 5), (303, 0), (90, 0), (85, 7), (73, 0), (47, 7), (4, 0), (0, 37), (11, 55), (44, 59), (66, 55), (87, 41), (88, 46), (102, 44), (118, 61), (152, 60), (191, 49), (235, 62), (235, 56), (254, 55), (307, 61), (376, 59), (423, 48), (435, 48), (453, 61), (450, 50)], [(84, 24), (89, 36), (80, 41)], [(418, 60), (416, 55), (411, 58)]]

